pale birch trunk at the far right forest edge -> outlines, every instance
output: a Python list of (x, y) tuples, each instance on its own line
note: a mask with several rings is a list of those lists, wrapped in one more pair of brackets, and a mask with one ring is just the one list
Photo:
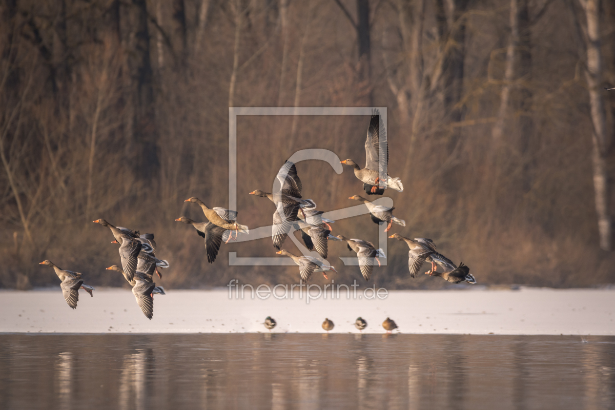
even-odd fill
[(593, 188), (595, 192), (596, 213), (598, 215), (598, 235), (600, 248), (610, 251), (613, 248), (613, 229), (609, 212), (609, 178), (606, 169), (606, 154), (610, 148), (610, 138), (606, 133), (606, 113), (602, 84), (602, 54), (600, 50), (600, 0), (581, 2), (587, 18), (587, 70), (585, 79), (589, 89), (589, 103), (592, 117), (592, 166)]

